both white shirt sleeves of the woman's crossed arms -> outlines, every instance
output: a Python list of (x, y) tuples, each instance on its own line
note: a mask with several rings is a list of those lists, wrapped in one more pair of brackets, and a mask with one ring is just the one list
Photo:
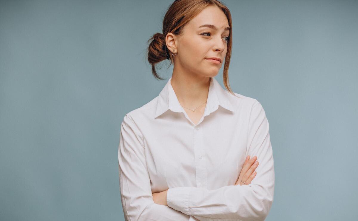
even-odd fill
[(126, 221), (265, 220), (273, 202), (275, 173), (269, 123), (259, 102), (251, 109), (247, 155), (257, 156), (260, 165), (249, 185), (215, 190), (169, 188), (164, 191), (165, 198), (159, 195), (163, 205), (157, 204), (151, 193), (144, 146), (137, 132), (138, 128), (126, 115), (121, 124), (118, 148), (121, 201)]

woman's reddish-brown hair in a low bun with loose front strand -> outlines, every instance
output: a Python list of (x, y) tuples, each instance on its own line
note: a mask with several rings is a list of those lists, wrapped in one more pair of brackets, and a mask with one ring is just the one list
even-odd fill
[[(231, 46), (232, 46), (232, 23), (231, 13), (227, 6), (218, 0), (175, 0), (168, 8), (163, 19), (163, 34), (156, 33), (149, 40), (152, 40), (148, 47), (148, 62), (152, 65), (152, 73), (155, 78), (163, 80), (155, 70), (155, 65), (163, 60), (170, 60), (170, 64), (173, 63), (173, 55), (166, 47), (165, 36), (171, 32), (177, 36), (183, 34), (183, 27), (195, 16), (197, 16), (207, 6), (216, 5), (221, 9), (229, 22), (230, 36), (227, 43), (227, 52), (225, 55), (225, 64), (223, 70), (223, 82), (228, 90), (232, 92), (229, 84), (228, 69), (231, 58)], [(170, 65), (169, 64), (169, 65)]]

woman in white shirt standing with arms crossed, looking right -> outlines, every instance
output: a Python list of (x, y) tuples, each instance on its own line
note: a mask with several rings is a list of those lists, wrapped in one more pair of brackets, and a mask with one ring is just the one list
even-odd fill
[[(174, 68), (158, 97), (121, 124), (126, 220), (257, 221), (268, 215), (275, 184), (269, 123), (256, 99), (228, 86), (231, 27), (229, 10), (217, 0), (176, 0), (163, 34), (150, 39), (153, 75), (162, 79), (155, 71), (162, 60)], [(223, 63), (227, 90), (214, 78)]]

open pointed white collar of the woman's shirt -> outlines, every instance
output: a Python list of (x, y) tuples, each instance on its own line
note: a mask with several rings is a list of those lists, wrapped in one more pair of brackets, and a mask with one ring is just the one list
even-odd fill
[[(164, 112), (170, 109), (173, 112), (184, 112), (183, 107), (180, 105), (178, 98), (175, 95), (174, 89), (170, 83), (171, 77), (161, 90), (158, 96), (158, 103), (155, 112), (155, 117), (160, 116)], [(234, 112), (234, 107), (229, 100), (229, 94), (224, 90), (219, 82), (211, 77), (208, 92), (207, 108), (205, 109), (205, 115), (210, 114), (218, 109), (218, 105)]]

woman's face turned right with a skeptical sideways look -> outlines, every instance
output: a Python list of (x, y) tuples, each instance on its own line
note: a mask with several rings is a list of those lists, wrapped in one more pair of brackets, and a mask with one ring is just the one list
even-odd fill
[[(213, 25), (204, 26), (204, 25)], [(216, 30), (217, 28), (217, 30)], [(224, 63), (230, 31), (226, 15), (217, 6), (208, 6), (183, 28), (183, 35), (178, 36), (174, 57), (174, 68), (214, 77)], [(208, 58), (219, 58), (215, 63)], [(178, 66), (177, 66), (178, 68)]]

